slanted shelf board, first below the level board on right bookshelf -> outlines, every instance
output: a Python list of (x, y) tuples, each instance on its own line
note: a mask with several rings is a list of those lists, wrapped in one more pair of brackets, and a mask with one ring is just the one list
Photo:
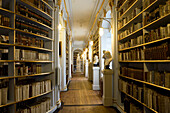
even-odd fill
[(135, 79), (135, 78), (126, 77), (126, 76), (123, 76), (123, 75), (119, 75), (119, 76), (123, 77), (123, 78), (126, 78), (126, 79), (133, 80), (133, 81), (137, 81), (137, 82), (140, 82), (140, 83), (143, 83), (143, 84), (147, 84), (147, 85), (150, 85), (150, 86), (154, 86), (154, 87), (157, 87), (157, 88), (160, 88), (160, 89), (170, 91), (170, 88), (166, 88), (166, 87), (159, 86), (159, 85), (156, 85), (156, 84), (152, 84), (152, 83), (149, 83), (149, 82), (146, 82), (146, 81), (138, 80), (138, 79)]

